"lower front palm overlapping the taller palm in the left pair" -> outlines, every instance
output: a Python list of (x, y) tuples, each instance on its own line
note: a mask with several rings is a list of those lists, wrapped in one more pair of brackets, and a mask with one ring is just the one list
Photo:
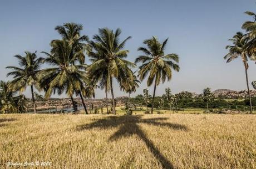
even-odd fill
[(86, 80), (85, 64), (76, 64), (77, 53), (72, 53), (72, 45), (67, 40), (54, 40), (52, 42), (51, 54), (45, 53), (47, 58), (45, 63), (53, 68), (43, 69), (38, 73), (41, 87), (45, 87), (45, 97), (49, 98), (52, 93), (66, 94), (70, 96), (73, 109), (76, 112), (76, 103), (73, 94), (82, 91), (83, 82)]

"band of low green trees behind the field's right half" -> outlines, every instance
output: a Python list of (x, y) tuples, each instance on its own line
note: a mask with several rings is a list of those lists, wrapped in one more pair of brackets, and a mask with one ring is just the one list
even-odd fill
[[(193, 96), (192, 93), (188, 91), (183, 91), (181, 93), (174, 95), (176, 99), (176, 107), (171, 106), (166, 97), (166, 94), (163, 96), (156, 96), (154, 99), (154, 107), (156, 109), (161, 108), (164, 110), (183, 110), (188, 108), (200, 108), (206, 109), (207, 102), (204, 100), (203, 95)], [(149, 103), (147, 106), (151, 107), (151, 95), (149, 95)], [(145, 99), (143, 95), (137, 95), (135, 98), (131, 98), (131, 103), (136, 105), (146, 106)], [(161, 105), (161, 103), (163, 105)], [(253, 110), (256, 109), (256, 98), (252, 98)], [(223, 99), (222, 96), (215, 96), (212, 101), (209, 102), (209, 111), (211, 109), (229, 109), (229, 110), (239, 110), (239, 111), (249, 111), (250, 110), (250, 101), (249, 99)]]

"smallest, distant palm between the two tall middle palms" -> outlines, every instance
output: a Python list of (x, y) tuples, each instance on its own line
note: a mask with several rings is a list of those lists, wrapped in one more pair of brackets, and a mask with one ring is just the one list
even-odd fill
[(123, 89), (125, 91), (125, 93), (128, 93), (128, 106), (130, 108), (130, 94), (132, 92), (136, 91), (136, 88), (139, 88), (139, 84), (140, 81), (137, 80), (136, 75), (135, 75), (136, 71), (134, 71), (132, 73), (132, 78), (127, 77), (125, 78), (125, 81), (122, 83), (121, 89)]

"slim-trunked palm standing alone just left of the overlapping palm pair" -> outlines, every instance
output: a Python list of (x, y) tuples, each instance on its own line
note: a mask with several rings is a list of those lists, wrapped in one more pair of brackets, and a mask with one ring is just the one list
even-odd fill
[(7, 69), (12, 69), (13, 71), (9, 72), (7, 76), (12, 75), (14, 80), (11, 81), (9, 84), (9, 89), (12, 91), (20, 91), (22, 93), (26, 90), (27, 86), (31, 87), (31, 95), (33, 101), (34, 112), (36, 113), (36, 101), (34, 96), (34, 89), (35, 86), (38, 88), (38, 81), (36, 74), (40, 71), (40, 66), (42, 65), (43, 58), (37, 58), (36, 52), (25, 52), (25, 56), (22, 57), (21, 55), (15, 55), (14, 57), (18, 59), (19, 66), (7, 66)]

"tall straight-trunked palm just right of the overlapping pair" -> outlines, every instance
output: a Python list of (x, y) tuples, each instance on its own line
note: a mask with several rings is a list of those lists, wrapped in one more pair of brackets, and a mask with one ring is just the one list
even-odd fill
[[(132, 76), (130, 67), (135, 67), (134, 63), (131, 63), (124, 58), (127, 57), (128, 50), (125, 50), (125, 43), (131, 37), (127, 37), (121, 43), (119, 37), (121, 29), (116, 29), (114, 32), (108, 28), (99, 29), (99, 35), (94, 35), (93, 40), (90, 41), (90, 48), (88, 48), (88, 56), (91, 57), (93, 62), (88, 67), (88, 72), (91, 76), (95, 75), (97, 71), (106, 75), (105, 91), (111, 91), (112, 96), (112, 113), (116, 114), (116, 103), (113, 90), (113, 78), (121, 84), (121, 80), (127, 76)], [(126, 76), (124, 76), (126, 74)]]

